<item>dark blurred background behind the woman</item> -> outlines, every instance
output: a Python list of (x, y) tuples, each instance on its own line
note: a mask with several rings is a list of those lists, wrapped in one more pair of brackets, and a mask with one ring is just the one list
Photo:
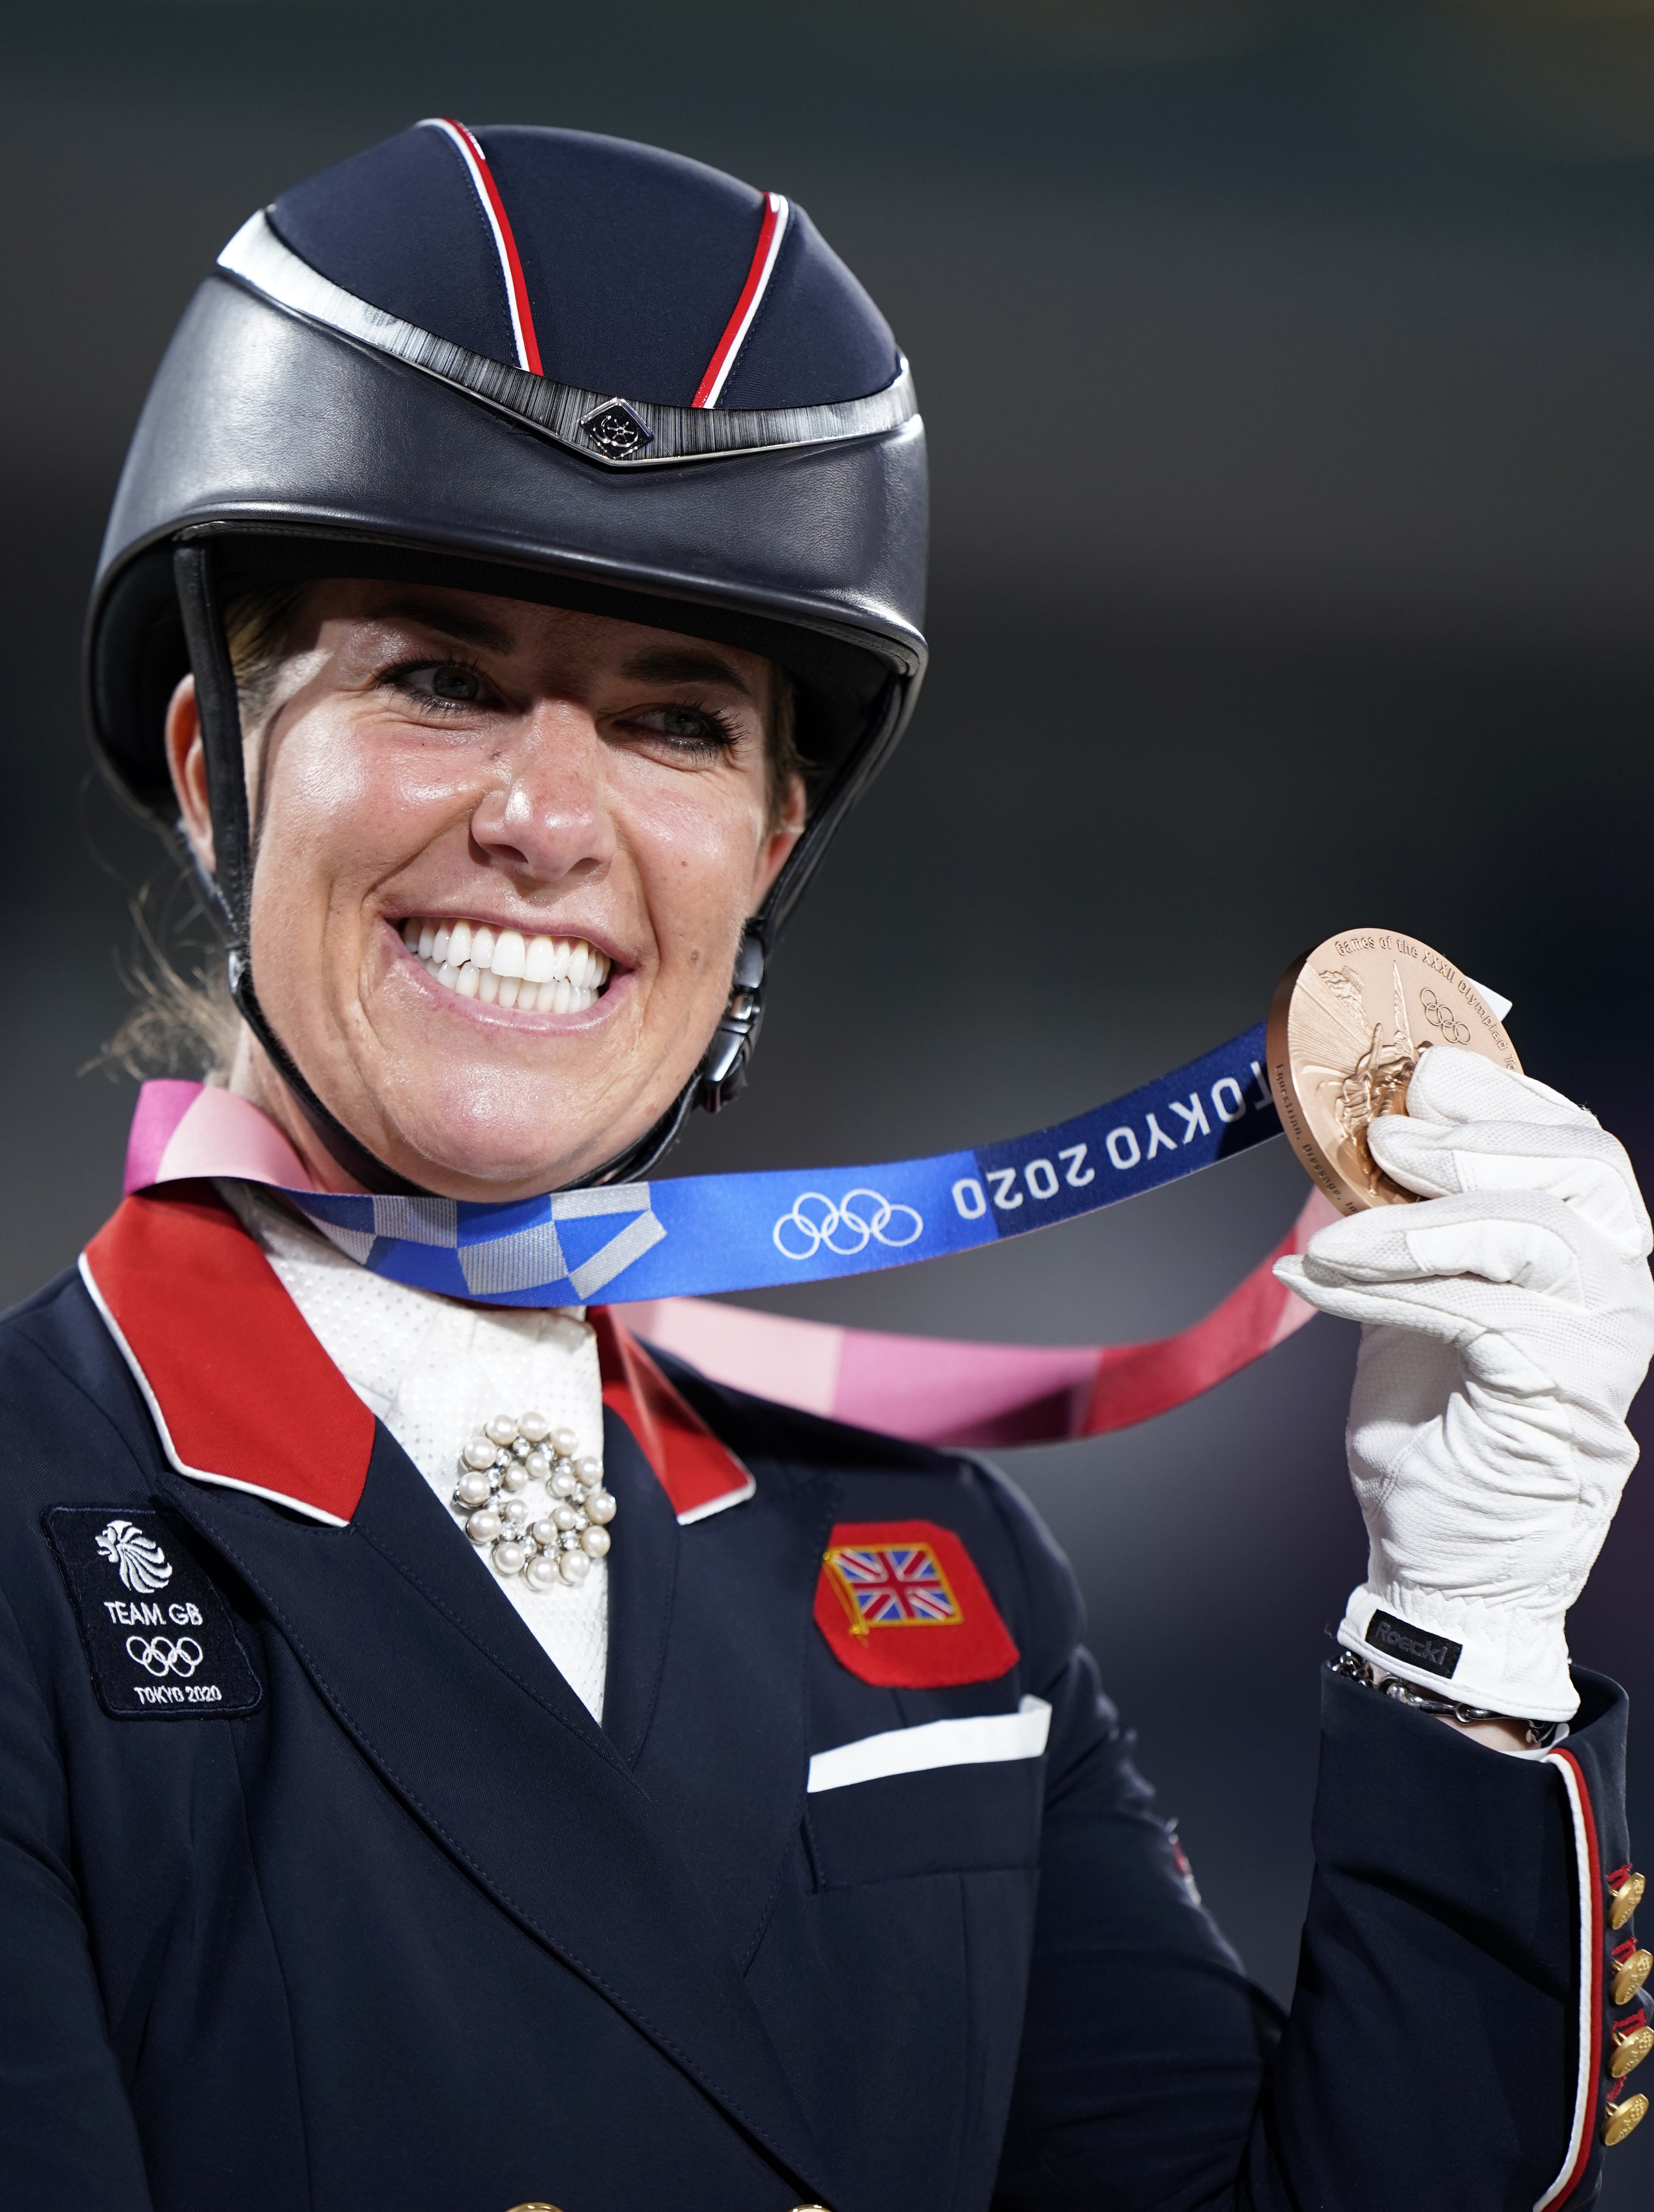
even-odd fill
[[(805, 902), (758, 1075), (677, 1168), (889, 1159), (1077, 1113), (1254, 1022), (1349, 925), (1515, 1000), (1654, 1179), (1654, 4), (467, 0), (13, 7), (0, 345), (0, 1294), (119, 1190), (150, 841), (77, 630), (148, 376), (281, 186), (436, 113), (659, 139), (800, 199), (933, 436), (933, 675)], [(27, 958), (24, 958), (27, 953)], [(1287, 1228), (1274, 1144), (1090, 1223), (774, 1305), (1117, 1340)], [(1318, 1663), (1362, 1573), (1353, 1332), (1013, 1453), (1252, 1971), (1291, 1986)], [(1574, 1652), (1654, 1710), (1654, 1478)], [(1654, 1734), (1632, 1739), (1654, 1854)], [(1608, 2159), (1650, 2203), (1654, 2126)], [(1639, 2179), (1641, 2177), (1641, 2179)]]

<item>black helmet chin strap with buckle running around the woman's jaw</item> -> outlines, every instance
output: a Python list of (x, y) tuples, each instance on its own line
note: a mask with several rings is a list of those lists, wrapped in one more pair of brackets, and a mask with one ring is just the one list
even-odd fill
[[(422, 1183), (411, 1183), (396, 1168), (371, 1152), (310, 1088), (305, 1075), (287, 1046), (270, 1024), (270, 1015), (259, 1004), (252, 984), (252, 823), (248, 814), (248, 776), (241, 739), (241, 699), (237, 695), (230, 646), (223, 633), (223, 611), (219, 606), (219, 582), (212, 562), (212, 540), (184, 538), (172, 549), (172, 580), (177, 584), (179, 615), (184, 619), (184, 641), (195, 672), (195, 703), (201, 719), (201, 750), (206, 754), (208, 807), (212, 814), (214, 874), (212, 896), (223, 918), (228, 945), (230, 995), (241, 1020), (270, 1055), (270, 1064), (296, 1099), (316, 1137), (332, 1157), (360, 1183), (363, 1190), (380, 1197), (431, 1197)], [(716, 1113), (745, 1082), (745, 1064), (758, 1035), (763, 1018), (763, 922), (750, 922), (747, 936), (736, 956), (730, 1009), (719, 1022), (705, 1060), (677, 1095), (661, 1119), (626, 1152), (577, 1177), (566, 1188), (584, 1190), (593, 1183), (621, 1183), (646, 1175), (655, 1161), (674, 1144), (683, 1119), (701, 1104)]]

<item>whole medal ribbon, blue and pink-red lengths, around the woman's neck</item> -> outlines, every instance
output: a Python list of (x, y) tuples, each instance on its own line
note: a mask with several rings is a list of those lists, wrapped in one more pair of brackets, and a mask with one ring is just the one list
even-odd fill
[(126, 1190), (197, 1177), (263, 1183), (396, 1281), (495, 1305), (593, 1303), (613, 1285), (628, 1294), (613, 1305), (617, 1321), (712, 1380), (924, 1444), (1035, 1444), (1165, 1413), (1311, 1321), (1274, 1263), (1333, 1219), (1327, 1201), (1311, 1192), (1280, 1245), (1203, 1321), (1141, 1345), (893, 1336), (699, 1294), (964, 1252), (1210, 1168), (1278, 1135), (1260, 1062), (1258, 1026), (1075, 1121), (973, 1152), (679, 1177), (511, 1206), (316, 1192), (257, 1106), (203, 1084), (150, 1082), (133, 1117)]

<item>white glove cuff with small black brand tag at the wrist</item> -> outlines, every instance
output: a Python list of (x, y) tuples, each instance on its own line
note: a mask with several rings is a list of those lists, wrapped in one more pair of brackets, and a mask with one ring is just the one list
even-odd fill
[(1493, 1606), (1448, 1610), (1417, 1590), (1362, 1584), (1349, 1593), (1338, 1641), (1455, 1703), (1517, 1721), (1572, 1721), (1579, 1712), (1561, 1619)]

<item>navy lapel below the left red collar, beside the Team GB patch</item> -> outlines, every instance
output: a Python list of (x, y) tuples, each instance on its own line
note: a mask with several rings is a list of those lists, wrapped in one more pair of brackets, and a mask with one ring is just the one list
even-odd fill
[(670, 1832), (460, 1551), (396, 1440), (378, 1431), (347, 1528), (177, 1478), (166, 1491), (429, 1834), (800, 2183), (825, 2190), (809, 2124)]

